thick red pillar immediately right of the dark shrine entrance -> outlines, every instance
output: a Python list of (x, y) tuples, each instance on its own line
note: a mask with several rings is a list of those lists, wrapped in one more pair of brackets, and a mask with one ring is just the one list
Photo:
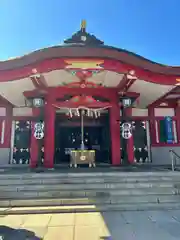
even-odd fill
[(113, 104), (110, 108), (111, 159), (112, 165), (121, 164), (120, 152), (120, 108)]

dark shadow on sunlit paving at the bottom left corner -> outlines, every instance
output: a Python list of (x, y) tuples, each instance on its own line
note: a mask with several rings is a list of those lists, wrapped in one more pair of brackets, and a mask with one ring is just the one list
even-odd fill
[(0, 240), (42, 240), (34, 232), (26, 229), (14, 229), (0, 226)]

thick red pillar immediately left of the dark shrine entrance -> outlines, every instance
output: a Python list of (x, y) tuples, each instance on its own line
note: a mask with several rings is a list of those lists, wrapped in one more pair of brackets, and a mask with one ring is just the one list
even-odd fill
[(45, 104), (44, 167), (54, 167), (55, 110), (50, 98)]

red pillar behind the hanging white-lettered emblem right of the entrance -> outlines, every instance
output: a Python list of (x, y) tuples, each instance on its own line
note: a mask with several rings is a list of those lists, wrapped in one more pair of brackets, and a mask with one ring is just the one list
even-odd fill
[[(125, 109), (125, 115), (127, 117), (132, 117), (132, 108), (126, 108)], [(134, 163), (134, 139), (133, 136), (131, 136), (129, 139), (127, 139), (127, 156), (128, 156), (128, 162)]]

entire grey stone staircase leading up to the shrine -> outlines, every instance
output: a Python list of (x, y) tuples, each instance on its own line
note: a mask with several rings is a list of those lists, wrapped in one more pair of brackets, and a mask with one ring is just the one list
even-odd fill
[(178, 172), (0, 174), (6, 213), (180, 209)]

